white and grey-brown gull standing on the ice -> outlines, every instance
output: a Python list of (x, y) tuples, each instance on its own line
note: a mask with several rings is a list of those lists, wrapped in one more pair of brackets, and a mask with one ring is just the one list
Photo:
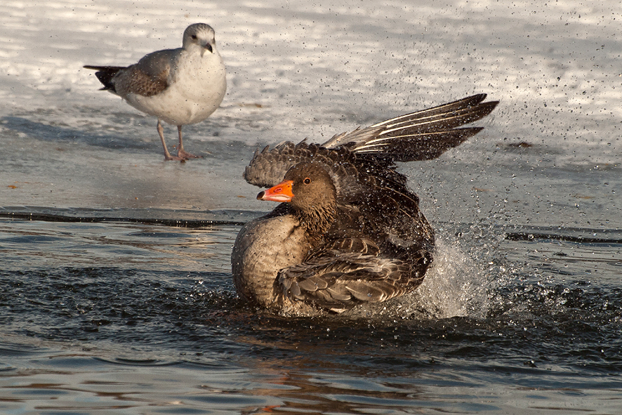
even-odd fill
[[(183, 148), (181, 129), (203, 121), (216, 111), (227, 89), (225, 64), (216, 50), (214, 29), (204, 23), (188, 26), (181, 48), (145, 55), (128, 67), (93, 66), (95, 76), (110, 91), (137, 110), (157, 117), (157, 130), (164, 147), (164, 160), (199, 158)], [(166, 148), (162, 121), (176, 125), (177, 156)]]

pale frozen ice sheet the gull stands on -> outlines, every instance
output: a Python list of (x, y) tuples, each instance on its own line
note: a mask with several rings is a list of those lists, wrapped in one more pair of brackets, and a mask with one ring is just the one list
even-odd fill
[[(256, 147), (485, 92), (484, 133), (403, 167), (428, 217), (621, 226), (619, 1), (5, 4), (0, 206), (268, 210), (241, 178)], [(185, 128), (205, 159), (165, 163), (156, 120), (82, 65), (176, 48), (192, 22), (216, 29), (228, 91)]]

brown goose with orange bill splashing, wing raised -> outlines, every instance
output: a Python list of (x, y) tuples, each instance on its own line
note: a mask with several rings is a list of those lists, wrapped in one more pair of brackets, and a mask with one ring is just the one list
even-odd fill
[(432, 264), (434, 231), (395, 162), (433, 159), (482, 127), (485, 94), (333, 136), (256, 152), (244, 178), (282, 202), (246, 223), (232, 251), (237, 292), (271, 310), (340, 312), (413, 291)]

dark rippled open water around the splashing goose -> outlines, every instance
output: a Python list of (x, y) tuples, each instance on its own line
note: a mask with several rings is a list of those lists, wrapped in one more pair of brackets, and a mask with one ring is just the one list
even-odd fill
[(501, 232), (456, 229), (417, 295), (304, 319), (235, 296), (238, 229), (4, 220), (4, 409), (614, 414), (621, 404), (621, 232), (589, 244), (503, 234), (494, 253), (469, 255), (461, 239)]

